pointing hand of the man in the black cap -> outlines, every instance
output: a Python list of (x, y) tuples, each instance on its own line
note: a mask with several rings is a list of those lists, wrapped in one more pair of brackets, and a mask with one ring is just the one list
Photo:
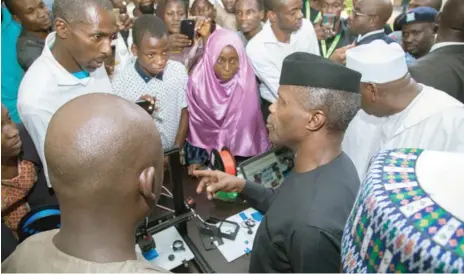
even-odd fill
[(202, 177), (197, 187), (197, 193), (206, 191), (209, 200), (212, 200), (216, 192), (242, 192), (246, 181), (236, 176), (217, 170), (195, 170), (193, 175)]

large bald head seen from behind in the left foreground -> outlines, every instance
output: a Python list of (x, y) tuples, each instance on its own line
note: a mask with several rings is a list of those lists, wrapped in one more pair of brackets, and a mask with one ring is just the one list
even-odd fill
[(114, 95), (84, 95), (62, 106), (47, 129), (45, 158), (60, 206), (69, 211), (114, 210), (135, 222), (161, 191), (163, 151), (153, 120)]

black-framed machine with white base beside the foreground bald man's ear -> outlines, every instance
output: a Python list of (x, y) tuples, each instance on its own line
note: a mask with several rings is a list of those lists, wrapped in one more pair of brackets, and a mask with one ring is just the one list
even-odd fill
[(164, 155), (169, 158), (170, 180), (164, 182), (167, 187), (156, 210), (138, 226), (135, 249), (149, 262), (166, 270), (194, 263), (202, 273), (213, 273), (188, 235), (187, 221), (197, 215), (193, 199), (184, 197), (179, 149), (165, 151)]

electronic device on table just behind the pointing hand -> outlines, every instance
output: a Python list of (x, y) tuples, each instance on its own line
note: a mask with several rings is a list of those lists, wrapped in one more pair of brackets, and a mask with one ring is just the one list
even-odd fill
[(242, 162), (238, 168), (247, 181), (267, 188), (277, 188), (294, 166), (292, 151), (287, 148), (274, 148)]

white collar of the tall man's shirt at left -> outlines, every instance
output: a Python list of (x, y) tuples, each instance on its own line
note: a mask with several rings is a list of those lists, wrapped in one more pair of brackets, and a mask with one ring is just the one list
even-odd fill
[[(50, 72), (55, 75), (56, 81), (60, 86), (76, 86), (76, 85), (87, 85), (92, 74), (95, 72), (90, 73), (89, 77), (84, 79), (78, 79), (72, 73), (67, 71), (53, 56), (51, 47), (55, 43), (56, 32), (50, 33), (47, 38), (45, 39), (45, 46), (42, 51), (42, 58), (45, 59), (48, 67), (50, 68)], [(100, 69), (100, 68), (99, 68)]]

